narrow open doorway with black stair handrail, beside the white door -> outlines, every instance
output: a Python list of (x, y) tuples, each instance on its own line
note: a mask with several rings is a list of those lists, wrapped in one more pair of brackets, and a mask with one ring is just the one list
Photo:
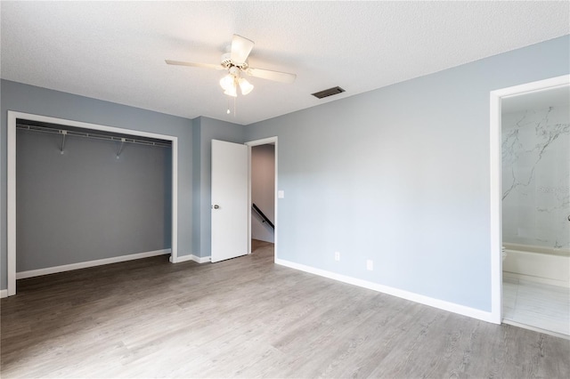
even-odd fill
[[(277, 257), (277, 137), (247, 142), (249, 253)], [(263, 252), (263, 253), (261, 253)]]

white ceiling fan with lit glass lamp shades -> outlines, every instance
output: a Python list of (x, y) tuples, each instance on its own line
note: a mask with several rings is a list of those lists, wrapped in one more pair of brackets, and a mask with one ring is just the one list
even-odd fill
[(251, 85), (242, 73), (250, 77), (260, 77), (262, 79), (273, 80), (281, 83), (293, 83), (297, 78), (296, 74), (289, 74), (288, 72), (273, 71), (271, 69), (255, 69), (249, 67), (248, 56), (253, 48), (254, 42), (243, 36), (233, 35), (232, 45), (228, 46), (229, 52), (222, 55), (220, 64), (213, 63), (194, 63), (183, 62), (179, 60), (165, 60), (167, 64), (199, 67), (204, 69), (224, 69), (228, 74), (220, 80), (220, 85), (224, 89), (226, 95), (236, 97), (237, 87), (240, 86), (241, 94), (246, 95), (253, 90)]

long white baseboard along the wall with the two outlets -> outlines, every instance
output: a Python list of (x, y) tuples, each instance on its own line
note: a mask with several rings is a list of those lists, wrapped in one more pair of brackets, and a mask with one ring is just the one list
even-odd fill
[(289, 262), (282, 259), (275, 258), (275, 263), (281, 266), (286, 266), (291, 269), (305, 271), (314, 275), (319, 275), (324, 278), (330, 278), (338, 280), (340, 282), (348, 283), (354, 286), (362, 286), (364, 288), (371, 289), (373, 291), (381, 292), (382, 294), (390, 294), (392, 296), (400, 297), (402, 299), (410, 300), (411, 302), (419, 302), (420, 304), (428, 305), (440, 310), (447, 310), (453, 313), (458, 313), (463, 316), (468, 316), (473, 319), (480, 319), (486, 322), (492, 322), (493, 315), (490, 311), (476, 310), (475, 308), (470, 308), (465, 305), (456, 304), (454, 302), (445, 302), (443, 300), (435, 299), (433, 297), (428, 297), (423, 294), (414, 294), (409, 291), (404, 291), (402, 289), (394, 288), (391, 286), (383, 286), (378, 283), (373, 283), (368, 280), (362, 280), (358, 278), (347, 277), (345, 275), (337, 274), (335, 272), (330, 272), (327, 270), (315, 269), (314, 267), (305, 266), (303, 264)]

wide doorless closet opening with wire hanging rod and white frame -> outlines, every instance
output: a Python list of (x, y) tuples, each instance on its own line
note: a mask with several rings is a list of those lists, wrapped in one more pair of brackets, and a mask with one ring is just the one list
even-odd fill
[(8, 295), (20, 278), (176, 262), (176, 137), (8, 113)]

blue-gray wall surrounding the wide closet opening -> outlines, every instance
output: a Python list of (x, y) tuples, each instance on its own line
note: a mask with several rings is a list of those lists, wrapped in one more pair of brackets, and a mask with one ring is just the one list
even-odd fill
[(0, 129), (0, 288), (7, 287), (6, 278), (6, 130), (7, 111), (59, 117), (124, 129), (160, 133), (178, 137), (178, 254), (191, 254), (192, 247), (192, 123), (145, 109), (136, 109), (109, 101), (99, 101), (70, 93), (61, 93), (32, 85), (1, 80)]

